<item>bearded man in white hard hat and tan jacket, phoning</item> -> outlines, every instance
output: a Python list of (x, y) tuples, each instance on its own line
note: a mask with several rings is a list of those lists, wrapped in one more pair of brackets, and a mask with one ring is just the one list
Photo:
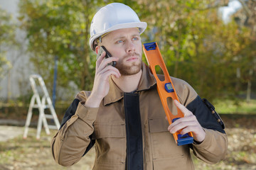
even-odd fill
[[(219, 162), (227, 151), (225, 131), (185, 81), (171, 77), (181, 103), (171, 101), (184, 118), (171, 125), (156, 90), (156, 80), (142, 63), (140, 34), (146, 23), (124, 4), (109, 4), (92, 19), (90, 47), (106, 52), (96, 62), (92, 91), (80, 91), (52, 140), (52, 154), (63, 166), (78, 162), (93, 145), (93, 169), (194, 169), (189, 149), (204, 162)], [(116, 66), (109, 65), (116, 62)], [(186, 106), (186, 107), (185, 107)], [(192, 132), (191, 145), (177, 146), (172, 133)]]

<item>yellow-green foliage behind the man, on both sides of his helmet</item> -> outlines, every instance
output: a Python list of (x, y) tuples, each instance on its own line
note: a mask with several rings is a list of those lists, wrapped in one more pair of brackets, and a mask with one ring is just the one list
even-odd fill
[[(53, 59), (58, 56), (58, 86), (90, 90), (95, 54), (90, 50), (90, 21), (101, 7), (114, 2), (93, 0), (21, 0), (21, 28), (26, 30), (31, 61), (48, 86), (53, 81)], [(245, 90), (255, 62), (255, 40), (250, 28), (223, 23), (213, 0), (119, 0), (148, 23), (144, 42), (156, 41), (171, 76), (188, 81), (211, 100), (233, 98)], [(143, 59), (145, 61), (145, 59)], [(237, 71), (240, 70), (240, 77)], [(70, 87), (71, 88), (71, 87)], [(51, 91), (51, 89), (50, 89)]]

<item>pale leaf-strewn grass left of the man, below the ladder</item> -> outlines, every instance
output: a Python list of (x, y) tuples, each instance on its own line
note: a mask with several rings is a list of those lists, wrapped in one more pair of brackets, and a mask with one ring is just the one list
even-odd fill
[(42, 130), (41, 139), (36, 140), (36, 129), (30, 128), (26, 140), (22, 135), (0, 142), (0, 169), (3, 170), (76, 170), (92, 169), (95, 158), (93, 152), (88, 152), (82, 162), (71, 167), (63, 167), (55, 163), (50, 153), (50, 141), (56, 130), (51, 130), (50, 135)]

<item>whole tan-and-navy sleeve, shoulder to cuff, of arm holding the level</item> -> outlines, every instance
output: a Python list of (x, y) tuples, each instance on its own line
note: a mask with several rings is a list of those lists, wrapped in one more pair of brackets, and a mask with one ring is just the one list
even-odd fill
[(174, 82), (181, 103), (196, 115), (198, 122), (206, 132), (206, 138), (201, 144), (193, 143), (191, 146), (193, 153), (208, 164), (215, 164), (224, 159), (228, 150), (228, 137), (222, 125), (218, 123), (210, 109), (189, 84), (180, 79), (174, 79)]

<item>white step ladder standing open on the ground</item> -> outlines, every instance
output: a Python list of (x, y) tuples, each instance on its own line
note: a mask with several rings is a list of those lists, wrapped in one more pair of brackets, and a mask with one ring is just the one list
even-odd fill
[[(41, 90), (43, 90), (42, 100), (41, 100), (40, 95), (38, 93), (38, 89), (37, 89), (37, 86), (36, 86), (35, 79), (38, 79), (39, 84), (41, 86)], [(46, 89), (46, 84), (44, 83), (43, 78), (38, 74), (32, 74), (29, 77), (29, 80), (30, 80), (31, 87), (32, 87), (32, 90), (33, 90), (33, 96), (31, 98), (31, 102), (30, 102), (29, 108), (28, 108), (28, 115), (27, 115), (27, 118), (26, 118), (26, 124), (25, 124), (25, 130), (24, 130), (23, 138), (26, 139), (26, 137), (28, 135), (28, 126), (31, 123), (32, 110), (33, 110), (33, 108), (38, 108), (39, 118), (38, 118), (36, 139), (39, 140), (41, 129), (42, 129), (42, 123), (43, 123), (43, 126), (44, 126), (45, 130), (46, 130), (47, 135), (50, 135), (49, 128), (50, 129), (59, 129), (60, 128), (60, 123), (59, 123), (57, 115), (55, 113), (55, 109), (53, 108), (53, 103), (50, 100), (48, 91)], [(46, 105), (46, 102), (47, 102), (47, 105)], [(46, 108), (50, 109), (50, 113), (51, 113), (50, 115), (46, 115), (44, 113)], [(55, 125), (48, 125), (46, 119), (53, 119)]]

